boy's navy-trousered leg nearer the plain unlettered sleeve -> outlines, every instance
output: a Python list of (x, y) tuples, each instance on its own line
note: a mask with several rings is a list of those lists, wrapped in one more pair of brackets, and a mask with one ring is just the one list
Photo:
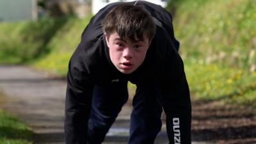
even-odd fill
[(128, 99), (127, 81), (95, 86), (88, 122), (88, 144), (100, 144)]

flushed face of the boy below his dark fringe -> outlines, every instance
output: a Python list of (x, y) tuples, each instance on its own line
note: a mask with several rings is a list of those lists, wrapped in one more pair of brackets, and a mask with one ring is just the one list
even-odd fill
[(143, 41), (124, 42), (117, 33), (112, 33), (109, 37), (105, 34), (105, 38), (112, 63), (124, 74), (131, 74), (140, 67), (150, 45), (148, 38), (144, 38)]

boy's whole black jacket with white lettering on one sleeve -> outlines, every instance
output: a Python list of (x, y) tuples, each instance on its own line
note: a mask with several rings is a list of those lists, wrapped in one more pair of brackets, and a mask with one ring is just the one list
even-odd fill
[[(134, 3), (134, 2), (131, 2)], [(119, 72), (109, 58), (102, 32), (102, 20), (116, 5), (102, 8), (83, 31), (81, 42), (70, 58), (67, 74), (65, 136), (67, 144), (85, 144), (93, 86), (125, 79), (134, 84), (154, 83), (163, 95), (170, 143), (191, 143), (189, 88), (179, 56), (179, 42), (173, 35), (172, 17), (156, 4), (139, 1), (157, 25), (156, 35), (142, 65), (132, 74)], [(179, 121), (179, 125), (178, 125)]]

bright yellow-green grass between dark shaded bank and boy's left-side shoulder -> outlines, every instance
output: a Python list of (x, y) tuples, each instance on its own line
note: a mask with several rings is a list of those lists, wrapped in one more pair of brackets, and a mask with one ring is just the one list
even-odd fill
[(72, 17), (68, 19), (65, 26), (60, 28), (56, 35), (51, 38), (47, 44), (51, 52), (47, 56), (32, 61), (36, 68), (49, 70), (60, 76), (67, 74), (68, 61), (81, 40), (81, 34), (88, 24), (90, 17), (86, 19), (77, 19)]

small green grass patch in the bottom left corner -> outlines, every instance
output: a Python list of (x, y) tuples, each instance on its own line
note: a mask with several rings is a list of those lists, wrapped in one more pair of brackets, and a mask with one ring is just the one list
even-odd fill
[(0, 143), (32, 144), (33, 132), (18, 118), (0, 109)]

